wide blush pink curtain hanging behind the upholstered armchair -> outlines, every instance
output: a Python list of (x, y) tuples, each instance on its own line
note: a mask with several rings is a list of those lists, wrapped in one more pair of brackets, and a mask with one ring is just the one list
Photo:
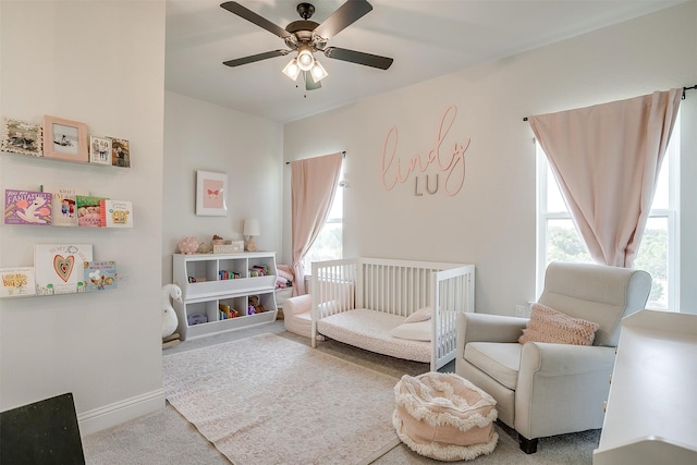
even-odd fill
[(594, 260), (632, 268), (681, 89), (530, 117)]

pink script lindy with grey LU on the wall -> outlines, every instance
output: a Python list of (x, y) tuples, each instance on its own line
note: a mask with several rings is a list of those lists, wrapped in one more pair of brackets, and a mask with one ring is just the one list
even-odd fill
[[(386, 191), (391, 191), (396, 184), (404, 184), (412, 179), (415, 196), (421, 196), (424, 193), (432, 195), (441, 188), (445, 195), (453, 196), (462, 189), (465, 183), (465, 152), (470, 139), (463, 138), (458, 142), (454, 136), (449, 137), (456, 115), (457, 107), (451, 105), (445, 108), (438, 123), (432, 147), (425, 155), (417, 154), (411, 158), (400, 157), (396, 126), (388, 131), (382, 145), (380, 167), (382, 187)], [(431, 170), (428, 174), (421, 174), (429, 168)], [(436, 173), (431, 176), (433, 171)]]

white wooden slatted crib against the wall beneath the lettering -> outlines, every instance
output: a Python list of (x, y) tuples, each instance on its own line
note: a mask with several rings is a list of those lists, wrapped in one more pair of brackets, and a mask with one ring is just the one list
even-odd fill
[[(311, 345), (323, 336), (438, 370), (455, 357), (455, 320), (474, 311), (474, 265), (364, 257), (314, 262)], [(390, 334), (423, 307), (432, 308), (430, 341)]]

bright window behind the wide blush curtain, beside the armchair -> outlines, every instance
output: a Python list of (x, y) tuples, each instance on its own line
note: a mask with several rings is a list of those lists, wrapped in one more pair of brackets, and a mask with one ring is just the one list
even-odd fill
[[(641, 237), (634, 268), (651, 274), (650, 308), (675, 308), (677, 304), (677, 211), (680, 163), (680, 114), (663, 159), (651, 212)], [(537, 151), (537, 295), (551, 261), (592, 262), (539, 144)]]

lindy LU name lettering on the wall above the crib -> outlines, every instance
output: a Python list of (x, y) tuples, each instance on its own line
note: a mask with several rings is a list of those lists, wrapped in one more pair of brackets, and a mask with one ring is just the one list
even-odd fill
[[(469, 147), (469, 138), (464, 139), (462, 144), (454, 143), (450, 158), (447, 155), (441, 156), (441, 145), (448, 135), (448, 132), (455, 122), (457, 115), (457, 107), (454, 105), (445, 108), (440, 118), (436, 142), (433, 147), (428, 151), (428, 156), (421, 159), (419, 155), (415, 155), (408, 159), (406, 167), (403, 167), (401, 159), (396, 156), (399, 131), (392, 126), (384, 138), (382, 146), (382, 186), (386, 191), (392, 189), (398, 183), (403, 184), (409, 180), (415, 170), (425, 172), (429, 166), (433, 164), (440, 172), (444, 172), (444, 192), (448, 196), (453, 196), (460, 192), (465, 183), (465, 152)], [(430, 188), (428, 174), (426, 175), (426, 189), (429, 194), (438, 192), (438, 174), (436, 174), (436, 188)], [(424, 195), (418, 187), (418, 173), (414, 175), (414, 195)]]

